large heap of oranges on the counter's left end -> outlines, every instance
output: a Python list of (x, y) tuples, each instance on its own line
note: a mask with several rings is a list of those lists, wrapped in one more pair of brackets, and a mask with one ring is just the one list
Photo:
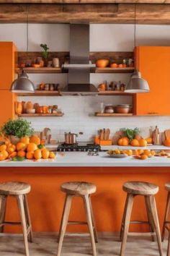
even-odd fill
[(0, 145), (0, 161), (17, 157), (36, 160), (41, 158), (48, 159), (55, 158), (55, 153), (45, 148), (40, 138), (35, 135), (32, 137), (22, 137), (17, 145), (12, 143)]

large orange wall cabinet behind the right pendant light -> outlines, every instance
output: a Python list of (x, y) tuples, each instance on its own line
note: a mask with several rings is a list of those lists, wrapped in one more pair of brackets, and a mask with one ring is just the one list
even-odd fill
[(138, 46), (135, 61), (150, 87), (149, 93), (135, 95), (135, 114), (170, 115), (170, 47)]

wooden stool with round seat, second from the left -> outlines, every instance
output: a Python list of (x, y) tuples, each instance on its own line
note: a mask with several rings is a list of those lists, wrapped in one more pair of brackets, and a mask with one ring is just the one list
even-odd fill
[[(63, 244), (63, 237), (66, 232), (66, 226), (68, 224), (86, 224), (89, 226), (89, 233), (91, 236), (91, 246), (93, 249), (93, 255), (96, 256), (96, 244), (97, 242), (97, 230), (94, 222), (93, 210), (91, 207), (90, 195), (96, 192), (96, 186), (87, 182), (67, 182), (61, 185), (61, 191), (66, 193), (66, 200), (63, 208), (63, 215), (61, 219), (61, 227), (58, 234), (58, 254), (61, 255), (61, 248)], [(68, 221), (68, 216), (71, 208), (71, 200), (73, 197), (82, 197), (84, 200), (84, 208), (86, 210), (87, 222), (84, 221)]]

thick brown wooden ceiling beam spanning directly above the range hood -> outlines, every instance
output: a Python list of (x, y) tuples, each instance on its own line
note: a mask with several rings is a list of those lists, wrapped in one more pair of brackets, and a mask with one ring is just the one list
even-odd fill
[[(0, 0), (1, 1), (1, 0)], [(134, 23), (134, 4), (0, 4), (0, 23)], [(138, 24), (170, 25), (170, 4), (137, 4)]]

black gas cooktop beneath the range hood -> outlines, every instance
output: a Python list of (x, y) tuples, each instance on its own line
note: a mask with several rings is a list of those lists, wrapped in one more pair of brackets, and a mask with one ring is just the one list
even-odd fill
[(95, 144), (84, 144), (84, 143), (76, 143), (76, 144), (66, 144), (63, 143), (58, 145), (57, 151), (99, 151), (100, 145)]

